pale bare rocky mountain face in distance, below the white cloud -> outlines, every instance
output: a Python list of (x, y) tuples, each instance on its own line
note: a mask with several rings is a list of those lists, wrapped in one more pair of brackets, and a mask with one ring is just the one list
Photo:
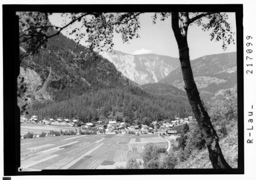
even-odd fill
[(157, 83), (180, 66), (178, 58), (164, 55), (132, 55), (120, 51), (102, 51), (100, 54), (113, 63), (123, 75), (139, 85)]

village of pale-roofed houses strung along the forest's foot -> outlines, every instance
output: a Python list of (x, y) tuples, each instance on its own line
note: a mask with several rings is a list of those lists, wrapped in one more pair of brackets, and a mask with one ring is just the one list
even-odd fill
[[(195, 121), (192, 116), (186, 118), (176, 117), (175, 120), (165, 120), (165, 121), (154, 121), (149, 126), (145, 124), (130, 124), (118, 121), (97, 121), (93, 123), (83, 123), (78, 119), (62, 119), (62, 118), (48, 118), (48, 119), (38, 119), (38, 116), (32, 115), (31, 118), (27, 119), (21, 117), (21, 138), (26, 138), (25, 134), (28, 132), (33, 132), (33, 137), (42, 137), (41, 133), (47, 135), (55, 135), (55, 133), (50, 133), (51, 130), (62, 131), (71, 130), (72, 133), (60, 133), (59, 135), (73, 135), (73, 134), (152, 134), (156, 133), (159, 135), (174, 135), (177, 134), (175, 127), (188, 124), (191, 121)], [(27, 127), (29, 126), (29, 127)], [(36, 126), (37, 129), (32, 129)], [(27, 127), (24, 128), (24, 127)], [(42, 127), (42, 128), (41, 128)], [(44, 127), (44, 128), (43, 128)], [(77, 131), (77, 129), (78, 131)], [(88, 133), (89, 132), (89, 133)], [(179, 135), (179, 134), (178, 134)]]

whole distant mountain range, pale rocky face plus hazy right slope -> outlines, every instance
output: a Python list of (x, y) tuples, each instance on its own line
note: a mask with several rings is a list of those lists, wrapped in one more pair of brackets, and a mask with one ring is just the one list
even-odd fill
[[(179, 58), (157, 54), (131, 55), (120, 51), (102, 51), (100, 54), (124, 76), (139, 85), (149, 84), (147, 88), (156, 88), (165, 83), (185, 91)], [(237, 85), (236, 52), (199, 57), (191, 61), (191, 67), (205, 103), (210, 104), (222, 98), (224, 90)]]

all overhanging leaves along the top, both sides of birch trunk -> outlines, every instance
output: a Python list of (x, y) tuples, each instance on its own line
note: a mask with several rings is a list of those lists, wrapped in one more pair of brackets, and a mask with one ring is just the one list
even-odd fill
[[(122, 41), (128, 43), (130, 39), (140, 37), (138, 30), (140, 29), (139, 16), (143, 12), (129, 13), (61, 13), (65, 18), (61, 27), (51, 25), (49, 23), (49, 15), (52, 13), (41, 12), (17, 12), (19, 15), (19, 38), (20, 44), (26, 47), (20, 55), (20, 59), (33, 55), (38, 49), (45, 47), (49, 38), (60, 34), (61, 31), (71, 28), (74, 23), (79, 24), (73, 28), (69, 35), (74, 35), (74, 40), (79, 44), (85, 41), (90, 49), (101, 50), (106, 48), (113, 49), (114, 32), (121, 34)], [(207, 12), (207, 13), (179, 13), (181, 22), (186, 20), (187, 25), (181, 23), (181, 30), (187, 28), (188, 25), (196, 24), (202, 27), (204, 31), (210, 31), (210, 39), (222, 41), (222, 48), (226, 49), (228, 44), (234, 43), (234, 32), (227, 22), (226, 13)], [(188, 14), (188, 15), (187, 15)], [(157, 12), (152, 16), (153, 24), (160, 17), (161, 21), (165, 21), (170, 12)], [(55, 29), (54, 33), (49, 33), (49, 29)], [(185, 31), (186, 32), (186, 31)], [(186, 34), (184, 34), (186, 35)]]

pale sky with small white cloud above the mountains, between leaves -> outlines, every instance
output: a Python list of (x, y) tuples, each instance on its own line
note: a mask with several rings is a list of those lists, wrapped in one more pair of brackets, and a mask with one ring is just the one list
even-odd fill
[[(235, 13), (228, 14), (228, 23), (232, 27), (232, 31), (236, 32), (235, 27)], [(140, 38), (132, 39), (129, 43), (123, 43), (121, 34), (114, 33), (113, 50), (122, 51), (128, 54), (148, 54), (154, 53), (159, 55), (167, 55), (171, 57), (179, 57), (178, 45), (176, 43), (173, 31), (171, 29), (171, 19), (167, 18), (165, 21), (157, 19), (156, 24), (152, 23), (153, 13), (144, 13), (140, 15), (141, 28), (139, 29)], [(53, 25), (61, 26), (65, 17), (54, 13), (49, 17)], [(66, 17), (66, 20), (68, 18)], [(78, 27), (76, 23), (70, 27)], [(83, 29), (82, 29), (83, 30)], [(70, 30), (65, 30), (70, 31)], [(64, 35), (73, 38), (67, 32)], [(190, 52), (190, 59), (202, 57), (204, 55), (219, 54), (225, 52), (237, 51), (237, 45), (229, 45), (224, 51), (221, 42), (210, 41), (210, 32), (203, 31), (201, 27), (196, 25), (189, 26), (188, 29), (188, 46)], [(236, 38), (234, 38), (236, 41)], [(81, 42), (85, 45), (84, 42)]]

